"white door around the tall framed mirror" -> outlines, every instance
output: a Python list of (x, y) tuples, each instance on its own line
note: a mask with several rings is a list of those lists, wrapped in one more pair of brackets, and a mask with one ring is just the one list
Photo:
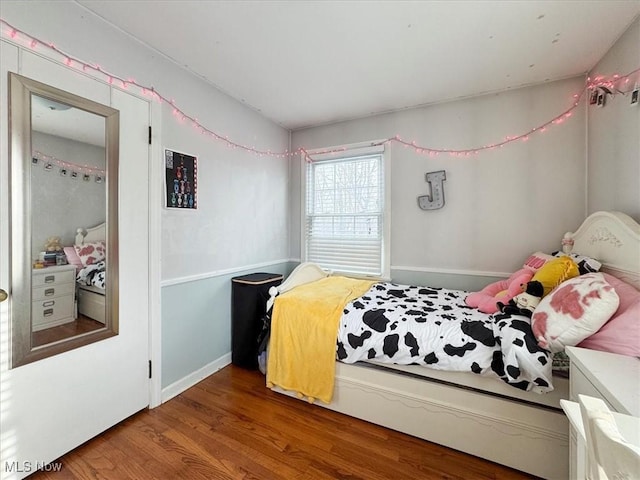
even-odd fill
[(150, 106), (8, 42), (0, 47), (0, 288), (10, 292), (7, 71), (120, 111), (119, 334), (9, 370), (11, 296), (0, 303), (0, 478), (5, 479), (33, 473), (149, 405)]

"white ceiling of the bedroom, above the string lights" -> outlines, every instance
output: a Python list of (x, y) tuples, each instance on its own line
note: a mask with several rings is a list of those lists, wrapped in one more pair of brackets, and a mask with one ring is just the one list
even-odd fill
[(291, 130), (583, 74), (640, 14), (640, 0), (77, 2)]

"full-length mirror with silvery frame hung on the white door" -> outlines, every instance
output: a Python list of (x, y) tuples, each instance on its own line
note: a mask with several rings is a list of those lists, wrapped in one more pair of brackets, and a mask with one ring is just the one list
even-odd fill
[(117, 110), (11, 73), (12, 367), (118, 332)]

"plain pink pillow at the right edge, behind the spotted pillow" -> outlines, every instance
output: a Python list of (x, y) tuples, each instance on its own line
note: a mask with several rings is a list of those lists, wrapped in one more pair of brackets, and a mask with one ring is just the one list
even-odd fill
[(640, 357), (640, 292), (613, 275), (602, 275), (618, 294), (620, 306), (600, 330), (578, 346)]

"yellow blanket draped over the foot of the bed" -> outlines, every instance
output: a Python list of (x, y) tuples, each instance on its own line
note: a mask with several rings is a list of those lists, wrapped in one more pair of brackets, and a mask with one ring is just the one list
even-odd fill
[(375, 282), (326, 277), (276, 298), (271, 317), (267, 386), (292, 390), (309, 402), (330, 403), (342, 311)]

